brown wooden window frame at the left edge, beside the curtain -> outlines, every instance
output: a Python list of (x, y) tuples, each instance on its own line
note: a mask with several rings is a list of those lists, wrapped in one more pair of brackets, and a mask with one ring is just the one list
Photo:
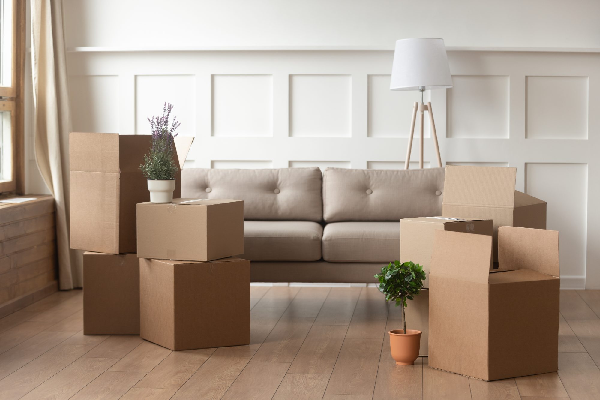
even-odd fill
[(11, 86), (0, 86), (0, 111), (11, 113), (11, 180), (0, 181), (0, 195), (25, 194), (25, 38), (26, 0), (13, 2)]

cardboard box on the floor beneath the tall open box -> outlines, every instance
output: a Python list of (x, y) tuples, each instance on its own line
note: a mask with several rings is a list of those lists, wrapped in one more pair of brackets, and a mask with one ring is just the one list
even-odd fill
[(139, 334), (136, 254), (83, 253), (83, 335)]

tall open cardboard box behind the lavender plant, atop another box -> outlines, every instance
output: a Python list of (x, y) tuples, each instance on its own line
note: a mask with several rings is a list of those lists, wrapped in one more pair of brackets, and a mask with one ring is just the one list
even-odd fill
[[(193, 139), (175, 138), (180, 168)], [(71, 249), (135, 253), (136, 204), (150, 200), (140, 164), (151, 135), (71, 133), (69, 146)], [(176, 197), (180, 177), (181, 171), (176, 175)]]

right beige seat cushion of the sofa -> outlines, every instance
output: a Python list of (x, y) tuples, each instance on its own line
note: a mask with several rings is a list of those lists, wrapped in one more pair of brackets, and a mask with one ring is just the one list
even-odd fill
[(400, 259), (400, 222), (332, 222), (323, 229), (329, 262), (391, 262)]

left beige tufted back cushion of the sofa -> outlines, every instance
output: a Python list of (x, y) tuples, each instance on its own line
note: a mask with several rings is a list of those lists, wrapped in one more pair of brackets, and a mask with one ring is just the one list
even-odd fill
[(244, 200), (246, 220), (323, 219), (322, 175), (317, 167), (181, 171), (182, 198)]

